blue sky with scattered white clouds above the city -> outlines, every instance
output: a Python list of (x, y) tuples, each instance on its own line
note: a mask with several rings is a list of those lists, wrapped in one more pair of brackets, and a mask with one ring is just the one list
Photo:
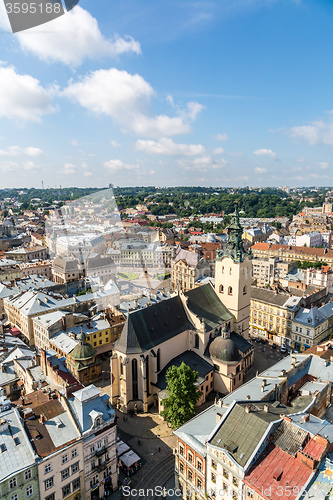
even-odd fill
[(13, 34), (0, 188), (332, 186), (331, 0), (80, 0)]

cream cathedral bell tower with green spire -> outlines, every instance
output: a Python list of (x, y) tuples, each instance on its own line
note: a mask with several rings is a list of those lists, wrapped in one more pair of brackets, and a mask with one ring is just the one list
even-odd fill
[(236, 333), (249, 337), (252, 256), (243, 246), (243, 227), (238, 205), (228, 226), (227, 246), (218, 251), (215, 261), (215, 291), (235, 316)]

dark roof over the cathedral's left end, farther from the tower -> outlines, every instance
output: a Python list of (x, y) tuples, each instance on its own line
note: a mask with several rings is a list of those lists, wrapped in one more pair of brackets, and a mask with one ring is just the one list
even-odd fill
[(124, 354), (139, 354), (191, 329), (177, 296), (129, 313), (115, 348)]

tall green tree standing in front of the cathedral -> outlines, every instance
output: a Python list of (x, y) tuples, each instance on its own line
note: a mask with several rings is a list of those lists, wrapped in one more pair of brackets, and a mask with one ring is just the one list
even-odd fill
[(166, 373), (168, 396), (162, 400), (162, 417), (175, 429), (183, 425), (195, 414), (195, 405), (202, 392), (194, 385), (198, 372), (182, 363), (179, 367), (170, 366)]

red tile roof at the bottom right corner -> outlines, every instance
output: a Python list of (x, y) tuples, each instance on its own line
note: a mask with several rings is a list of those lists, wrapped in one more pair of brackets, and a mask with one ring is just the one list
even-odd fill
[(293, 500), (298, 496), (312, 469), (275, 446), (265, 453), (245, 476), (244, 482), (267, 500)]

